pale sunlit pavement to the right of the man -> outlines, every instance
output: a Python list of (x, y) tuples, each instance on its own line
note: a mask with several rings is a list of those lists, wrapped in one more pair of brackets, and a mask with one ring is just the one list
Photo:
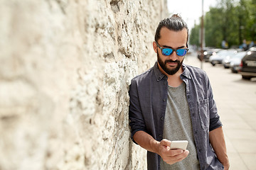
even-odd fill
[[(185, 64), (201, 68), (196, 55), (188, 55)], [(222, 65), (203, 62), (213, 88), (225, 142), (230, 170), (256, 170), (256, 79), (243, 80)]]

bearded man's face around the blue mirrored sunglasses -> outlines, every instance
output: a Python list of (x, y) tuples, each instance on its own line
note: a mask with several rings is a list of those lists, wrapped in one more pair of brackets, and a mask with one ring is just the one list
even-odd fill
[[(158, 40), (158, 43), (161, 47), (171, 47), (174, 49), (186, 48), (186, 28), (181, 31), (174, 31), (164, 27), (160, 30), (160, 36), (161, 38)], [(173, 52), (169, 56), (162, 55), (161, 49), (156, 46), (155, 42), (154, 50), (157, 53), (157, 62), (162, 69), (161, 71), (164, 71), (166, 74), (169, 75), (174, 75), (181, 69), (181, 64), (184, 60), (184, 57), (179, 57), (178, 55), (176, 55), (176, 52)]]

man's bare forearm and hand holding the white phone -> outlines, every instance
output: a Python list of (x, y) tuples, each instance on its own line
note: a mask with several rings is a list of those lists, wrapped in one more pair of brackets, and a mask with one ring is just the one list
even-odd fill
[(180, 162), (188, 156), (188, 150), (183, 151), (182, 149), (170, 149), (171, 141), (161, 140), (161, 142), (154, 140), (151, 135), (140, 130), (134, 134), (134, 141), (137, 142), (141, 147), (159, 154), (161, 158), (167, 164), (174, 164)]

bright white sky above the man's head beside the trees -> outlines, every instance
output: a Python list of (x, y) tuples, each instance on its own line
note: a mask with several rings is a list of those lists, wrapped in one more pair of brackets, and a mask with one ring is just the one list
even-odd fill
[[(203, 13), (215, 6), (218, 0), (203, 0)], [(188, 24), (188, 29), (193, 28), (195, 21), (198, 24), (202, 16), (202, 0), (167, 0), (169, 13), (178, 13)]]

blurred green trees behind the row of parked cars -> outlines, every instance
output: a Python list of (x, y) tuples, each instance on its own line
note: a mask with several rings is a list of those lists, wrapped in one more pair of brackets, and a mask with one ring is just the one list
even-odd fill
[[(201, 23), (191, 29), (191, 45), (200, 45)], [(239, 46), (242, 40), (256, 40), (256, 0), (221, 0), (204, 16), (207, 47), (221, 47), (225, 40), (229, 47)]]

